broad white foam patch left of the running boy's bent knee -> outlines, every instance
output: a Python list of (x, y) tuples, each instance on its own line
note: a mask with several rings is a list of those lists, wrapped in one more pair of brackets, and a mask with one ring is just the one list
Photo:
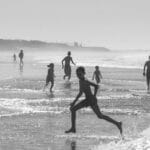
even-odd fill
[[(35, 101), (35, 102), (34, 102)], [(30, 103), (34, 103), (34, 105), (30, 105)], [(44, 104), (43, 104), (44, 102)], [(19, 99), (19, 98), (0, 98), (0, 107), (5, 108), (10, 112), (12, 111), (12, 115), (20, 115), (25, 113), (52, 113), (52, 114), (60, 114), (62, 112), (68, 111), (68, 108), (65, 107), (50, 107), (49, 105), (45, 105), (45, 103), (49, 103), (48, 99)], [(0, 116), (11, 116), (11, 114), (0, 114)]]

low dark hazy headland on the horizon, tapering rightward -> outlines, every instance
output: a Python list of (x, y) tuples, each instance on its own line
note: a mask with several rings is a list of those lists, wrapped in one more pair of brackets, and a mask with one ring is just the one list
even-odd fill
[(11, 39), (0, 39), (0, 50), (13, 50), (13, 49), (23, 49), (23, 48), (43, 48), (43, 49), (68, 49), (68, 50), (96, 50), (96, 51), (110, 51), (105, 47), (89, 47), (82, 46), (77, 42), (74, 42), (72, 45), (67, 43), (54, 43), (54, 42), (43, 42), (38, 40), (11, 40)]

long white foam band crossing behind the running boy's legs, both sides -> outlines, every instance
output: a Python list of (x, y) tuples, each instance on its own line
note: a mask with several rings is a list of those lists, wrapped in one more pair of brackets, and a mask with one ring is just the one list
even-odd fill
[[(54, 98), (55, 100), (55, 98)], [(60, 99), (58, 99), (60, 101)], [(63, 101), (63, 99), (62, 99)], [(70, 98), (68, 99), (70, 101)], [(51, 114), (62, 114), (69, 113), (69, 106), (54, 105), (53, 100), (49, 99), (20, 99), (20, 98), (0, 98), (0, 107), (7, 109), (8, 112), (16, 112), (19, 114), (24, 113), (51, 113)], [(51, 105), (52, 104), (52, 105)], [(123, 115), (140, 115), (144, 113), (138, 109), (119, 109), (119, 108), (101, 108), (101, 111), (109, 114), (123, 114)], [(81, 109), (80, 113), (93, 114), (90, 107)], [(6, 113), (7, 114), (7, 113)], [(5, 115), (1, 114), (0, 115)]]

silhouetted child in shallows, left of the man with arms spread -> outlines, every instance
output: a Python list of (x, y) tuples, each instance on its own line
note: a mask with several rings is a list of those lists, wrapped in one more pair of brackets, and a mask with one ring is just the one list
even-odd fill
[(49, 69), (48, 69), (48, 73), (47, 73), (47, 77), (46, 77), (46, 84), (44, 86), (44, 89), (49, 84), (49, 82), (51, 82), (50, 92), (52, 92), (52, 88), (54, 86), (54, 77), (55, 77), (55, 75), (54, 75), (54, 64), (50, 63), (49, 65), (47, 65), (47, 67), (49, 67)]

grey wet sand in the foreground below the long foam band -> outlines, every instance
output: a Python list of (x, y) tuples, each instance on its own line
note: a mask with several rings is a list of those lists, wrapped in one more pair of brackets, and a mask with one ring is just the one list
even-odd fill
[[(79, 115), (79, 114), (78, 114)], [(126, 136), (136, 137), (147, 128), (150, 119), (144, 116), (113, 116), (124, 122)], [(64, 134), (68, 128), (68, 115), (24, 114), (2, 117), (0, 122), (0, 148), (5, 150), (86, 150), (101, 143), (119, 141), (116, 127), (98, 120), (96, 116), (79, 115), (77, 133)], [(122, 118), (122, 119), (121, 119)], [(90, 120), (90, 122), (89, 122)]]

